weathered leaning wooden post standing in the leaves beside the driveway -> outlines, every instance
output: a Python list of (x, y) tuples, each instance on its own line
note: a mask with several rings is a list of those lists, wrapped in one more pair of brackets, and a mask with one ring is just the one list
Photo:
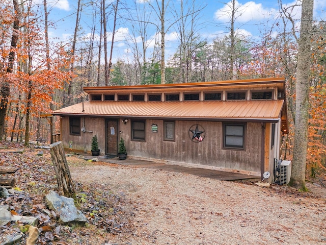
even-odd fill
[(51, 144), (50, 152), (52, 163), (56, 170), (59, 194), (68, 198), (74, 197), (75, 190), (62, 142), (58, 141)]

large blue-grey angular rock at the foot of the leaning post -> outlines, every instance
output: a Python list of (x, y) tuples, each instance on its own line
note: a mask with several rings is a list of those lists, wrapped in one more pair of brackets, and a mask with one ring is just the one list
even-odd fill
[(72, 198), (51, 191), (45, 196), (45, 201), (49, 209), (60, 215), (59, 222), (63, 225), (84, 226), (87, 222), (86, 216), (77, 210)]

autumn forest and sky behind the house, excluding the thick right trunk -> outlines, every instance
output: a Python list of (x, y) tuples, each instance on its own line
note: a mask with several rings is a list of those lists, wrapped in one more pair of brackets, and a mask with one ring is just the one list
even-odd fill
[[(59, 123), (48, 118), (52, 128), (42, 115), (87, 100), (85, 86), (285, 77), (290, 133), (284, 157), (291, 160), (301, 1), (268, 1), (277, 7), (268, 10), (254, 2), (216, 1), (221, 8), (208, 20), (211, 2), (2, 1), (1, 139), (50, 142)], [(307, 61), (311, 176), (326, 165), (325, 3), (314, 2)]]

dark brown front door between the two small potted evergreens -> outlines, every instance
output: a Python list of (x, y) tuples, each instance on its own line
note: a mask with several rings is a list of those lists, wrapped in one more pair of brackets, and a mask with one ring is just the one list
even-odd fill
[(106, 147), (105, 155), (118, 155), (118, 120), (106, 119)]

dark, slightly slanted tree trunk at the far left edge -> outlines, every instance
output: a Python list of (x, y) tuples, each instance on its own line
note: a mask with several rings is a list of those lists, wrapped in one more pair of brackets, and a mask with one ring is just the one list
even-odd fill
[[(17, 46), (18, 41), (18, 30), (19, 30), (19, 21), (20, 21), (20, 10), (17, 0), (13, 0), (14, 10), (15, 10), (15, 21), (14, 21), (14, 30), (12, 32), (11, 37), (11, 51), (9, 53), (8, 58), (8, 66), (7, 73), (12, 73), (15, 62), (15, 48)], [(7, 114), (7, 106), (8, 106), (8, 97), (10, 94), (10, 87), (8, 79), (5, 78), (5, 81), (2, 83), (0, 88), (0, 140), (3, 139), (5, 134), (5, 123), (6, 123), (6, 114)]]

